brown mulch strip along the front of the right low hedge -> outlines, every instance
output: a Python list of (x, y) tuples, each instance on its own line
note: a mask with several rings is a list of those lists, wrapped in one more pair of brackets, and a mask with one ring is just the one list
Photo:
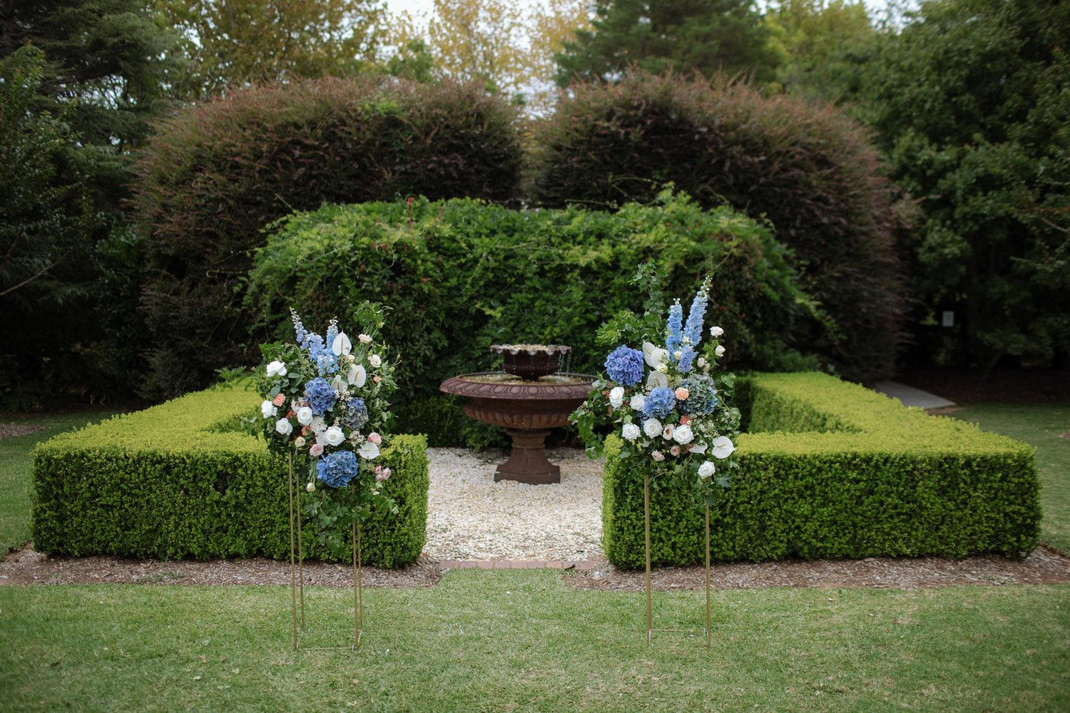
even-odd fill
[[(568, 580), (581, 589), (641, 591), (643, 570), (618, 570), (602, 560), (577, 570)], [(1006, 557), (895, 558), (857, 560), (784, 560), (736, 562), (710, 568), (714, 589), (761, 587), (823, 587), (919, 589), (959, 585), (1052, 585), (1070, 582), (1070, 557), (1041, 546), (1023, 560)], [(703, 589), (704, 567), (667, 567), (651, 573), (651, 585), (659, 591)]]

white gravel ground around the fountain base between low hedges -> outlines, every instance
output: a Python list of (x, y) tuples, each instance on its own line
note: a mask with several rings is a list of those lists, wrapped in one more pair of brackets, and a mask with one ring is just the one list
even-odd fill
[(506, 453), (429, 448), (427, 544), (431, 559), (584, 560), (601, 551), (602, 461), (548, 451), (561, 482), (494, 482)]

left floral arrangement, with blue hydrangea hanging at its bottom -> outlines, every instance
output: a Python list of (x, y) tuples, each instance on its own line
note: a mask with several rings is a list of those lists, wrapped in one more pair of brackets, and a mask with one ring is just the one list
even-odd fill
[(257, 386), (263, 397), (246, 423), (269, 448), (307, 465), (307, 512), (318, 518), (320, 540), (338, 553), (343, 533), (372, 508), (397, 507), (382, 493), (391, 469), (377, 463), (387, 443), (394, 367), (376, 342), (382, 308), (357, 308), (363, 330), (355, 339), (332, 320), (326, 335), (308, 331), (295, 311), (294, 342), (263, 344)]

